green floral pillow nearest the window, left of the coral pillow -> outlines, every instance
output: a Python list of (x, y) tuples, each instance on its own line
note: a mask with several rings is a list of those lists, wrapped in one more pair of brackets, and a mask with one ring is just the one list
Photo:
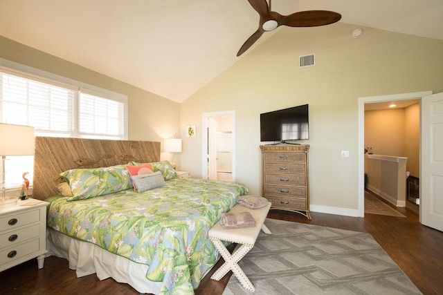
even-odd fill
[(132, 188), (131, 175), (125, 165), (91, 169), (71, 169), (60, 173), (71, 187), (68, 201), (84, 200)]

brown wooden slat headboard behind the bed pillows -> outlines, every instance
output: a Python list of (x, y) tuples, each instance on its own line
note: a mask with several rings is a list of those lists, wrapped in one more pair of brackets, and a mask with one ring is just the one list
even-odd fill
[(57, 184), (63, 181), (59, 174), (69, 169), (159, 160), (160, 142), (35, 137), (33, 198), (57, 195)]

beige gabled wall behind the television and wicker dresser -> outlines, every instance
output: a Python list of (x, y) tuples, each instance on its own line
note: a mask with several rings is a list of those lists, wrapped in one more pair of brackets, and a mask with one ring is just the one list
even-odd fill
[[(309, 104), (311, 209), (357, 210), (358, 98), (442, 92), (443, 41), (373, 28), (352, 39), (355, 28), (280, 28), (183, 102), (182, 169), (201, 175), (201, 113), (235, 110), (237, 180), (260, 194), (260, 113)], [(298, 68), (311, 53), (316, 66)], [(197, 137), (185, 137), (195, 123)]]

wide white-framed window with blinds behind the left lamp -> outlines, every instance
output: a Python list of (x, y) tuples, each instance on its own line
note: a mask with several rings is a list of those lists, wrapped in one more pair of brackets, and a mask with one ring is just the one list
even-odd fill
[[(0, 59), (0, 122), (36, 136), (125, 140), (127, 96)], [(33, 157), (6, 159), (7, 189), (21, 187), (24, 172), (32, 183)]]

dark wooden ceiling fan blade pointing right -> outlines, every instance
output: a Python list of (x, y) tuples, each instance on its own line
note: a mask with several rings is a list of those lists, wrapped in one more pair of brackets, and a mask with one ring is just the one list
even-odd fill
[(337, 12), (328, 10), (308, 10), (295, 12), (291, 15), (279, 15), (278, 25), (290, 27), (315, 27), (335, 23), (341, 19)]

